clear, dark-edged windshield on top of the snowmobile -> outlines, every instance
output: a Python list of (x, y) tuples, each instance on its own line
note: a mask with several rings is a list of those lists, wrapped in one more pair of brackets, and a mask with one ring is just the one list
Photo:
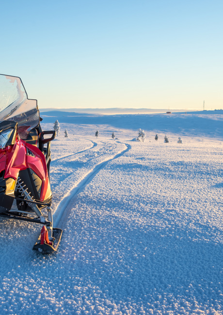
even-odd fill
[(30, 130), (39, 124), (36, 99), (28, 99), (20, 78), (0, 75), (0, 122), (16, 121), (18, 133), (26, 139)]

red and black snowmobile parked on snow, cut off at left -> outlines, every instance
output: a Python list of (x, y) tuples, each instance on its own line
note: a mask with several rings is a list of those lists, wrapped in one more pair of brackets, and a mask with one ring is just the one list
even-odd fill
[(56, 252), (62, 230), (53, 228), (49, 165), (55, 131), (40, 126), (37, 100), (20, 78), (0, 75), (0, 216), (42, 224), (33, 246)]

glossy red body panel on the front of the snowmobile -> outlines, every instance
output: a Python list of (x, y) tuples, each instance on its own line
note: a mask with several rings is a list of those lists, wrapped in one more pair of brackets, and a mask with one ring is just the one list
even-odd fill
[[(26, 147), (34, 157), (26, 154)], [(49, 185), (48, 171), (44, 154), (34, 145), (16, 140), (13, 146), (0, 149), (0, 172), (5, 170), (4, 178), (18, 178), (20, 170), (32, 169), (42, 180), (40, 200), (43, 201)]]

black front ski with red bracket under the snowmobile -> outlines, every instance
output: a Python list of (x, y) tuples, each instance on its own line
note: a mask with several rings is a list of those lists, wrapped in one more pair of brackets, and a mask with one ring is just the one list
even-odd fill
[(49, 238), (50, 241), (48, 241), (48, 233), (45, 233), (45, 226), (43, 226), (40, 236), (33, 246), (33, 251), (41, 252), (42, 254), (51, 254), (52, 252), (56, 252), (57, 248), (59, 246), (61, 236), (63, 233), (63, 230), (58, 228), (53, 228), (52, 232), (52, 241)]

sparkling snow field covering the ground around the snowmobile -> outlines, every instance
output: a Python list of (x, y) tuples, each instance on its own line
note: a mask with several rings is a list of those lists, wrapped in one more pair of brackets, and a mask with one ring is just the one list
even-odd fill
[(41, 225), (0, 218), (0, 314), (223, 314), (223, 116), (43, 118), (64, 232), (42, 255)]

